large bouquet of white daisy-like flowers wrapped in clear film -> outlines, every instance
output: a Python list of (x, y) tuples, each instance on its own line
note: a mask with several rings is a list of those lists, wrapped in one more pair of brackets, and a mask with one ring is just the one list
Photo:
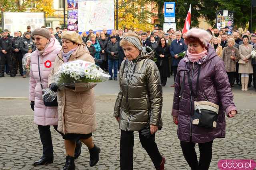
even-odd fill
[(54, 74), (54, 80), (58, 87), (87, 87), (88, 83), (96, 84), (108, 80), (109, 77), (110, 75), (106, 74), (98, 65), (83, 60), (68, 61), (62, 64), (58, 72)]

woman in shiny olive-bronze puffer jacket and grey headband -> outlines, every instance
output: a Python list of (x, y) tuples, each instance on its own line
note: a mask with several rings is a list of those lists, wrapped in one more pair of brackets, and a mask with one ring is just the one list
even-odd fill
[(120, 169), (133, 169), (134, 131), (150, 156), (156, 170), (164, 170), (165, 158), (155, 143), (155, 132), (162, 128), (162, 84), (150, 47), (141, 47), (140, 38), (126, 33), (120, 46), (126, 60), (120, 66), (120, 92), (116, 99), (114, 117), (119, 122)]

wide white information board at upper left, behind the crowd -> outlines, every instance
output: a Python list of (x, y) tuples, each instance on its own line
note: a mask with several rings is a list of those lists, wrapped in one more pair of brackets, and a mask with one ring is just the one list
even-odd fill
[(26, 32), (26, 26), (31, 26), (33, 31), (44, 25), (44, 12), (2, 12), (2, 29), (8, 29), (11, 34), (15, 31)]

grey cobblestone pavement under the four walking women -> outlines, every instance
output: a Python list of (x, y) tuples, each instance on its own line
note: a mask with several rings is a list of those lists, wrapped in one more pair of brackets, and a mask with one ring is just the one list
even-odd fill
[[(166, 170), (189, 169), (182, 155), (176, 126), (170, 113), (163, 113), (164, 128), (157, 132), (156, 143), (166, 158)], [(256, 110), (240, 110), (234, 119), (226, 119), (226, 138), (213, 143), (211, 170), (217, 170), (220, 159), (256, 159)], [(98, 130), (93, 134), (94, 142), (100, 146), (100, 161), (89, 166), (89, 153), (85, 145), (76, 160), (78, 170), (118, 170), (120, 130), (112, 113), (97, 113)], [(54, 163), (33, 166), (42, 156), (38, 128), (33, 116), (0, 116), (0, 169), (10, 170), (58, 170), (64, 166), (65, 152), (62, 137), (52, 128)], [(138, 133), (134, 137), (134, 169), (153, 170), (153, 164), (140, 145)], [(196, 151), (198, 147), (196, 146)], [(199, 158), (199, 157), (198, 157)]]

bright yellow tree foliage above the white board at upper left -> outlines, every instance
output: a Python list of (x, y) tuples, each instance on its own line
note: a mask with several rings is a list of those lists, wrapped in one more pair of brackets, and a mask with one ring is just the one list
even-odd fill
[(45, 17), (54, 16), (55, 10), (52, 8), (53, 0), (30, 0), (35, 3), (31, 12), (45, 12)]

